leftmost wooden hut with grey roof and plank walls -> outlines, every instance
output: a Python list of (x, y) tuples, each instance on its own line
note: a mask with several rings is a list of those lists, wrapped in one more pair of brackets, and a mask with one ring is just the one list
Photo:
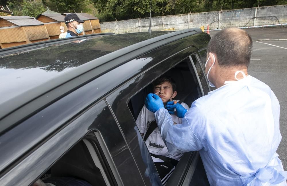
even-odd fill
[(49, 39), (44, 23), (29, 16), (0, 16), (0, 47), (7, 48)]

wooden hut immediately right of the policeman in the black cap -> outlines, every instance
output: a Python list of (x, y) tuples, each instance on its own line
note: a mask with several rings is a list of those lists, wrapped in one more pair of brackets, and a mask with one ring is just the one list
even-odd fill
[[(67, 15), (69, 13), (62, 13), (62, 15)], [(84, 27), (84, 33), (85, 35), (87, 34), (92, 34), (92, 33), (101, 33), (101, 26), (100, 26), (100, 21), (98, 17), (95, 17), (91, 14), (88, 13), (76, 13), (77, 16), (85, 21), (83, 23)]]

